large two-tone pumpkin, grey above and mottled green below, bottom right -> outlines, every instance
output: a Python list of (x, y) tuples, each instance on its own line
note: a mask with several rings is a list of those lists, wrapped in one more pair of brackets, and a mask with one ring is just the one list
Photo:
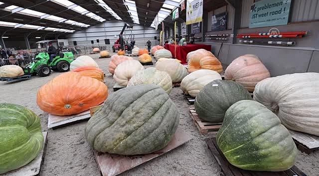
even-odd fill
[(251, 100), (241, 100), (226, 111), (216, 140), (227, 160), (245, 170), (285, 171), (297, 155), (292, 136), (276, 114)]

